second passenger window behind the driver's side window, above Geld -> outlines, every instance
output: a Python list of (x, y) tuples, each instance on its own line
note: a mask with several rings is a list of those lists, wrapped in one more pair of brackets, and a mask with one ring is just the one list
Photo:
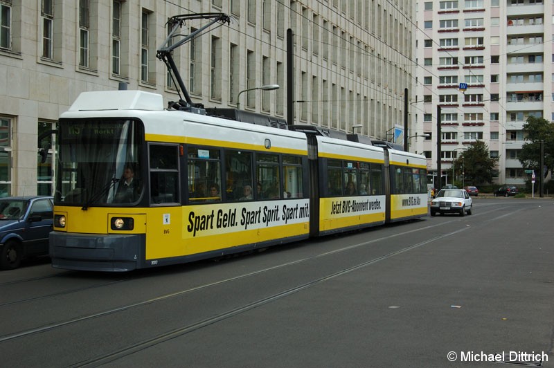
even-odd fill
[(247, 185), (252, 193), (252, 153), (225, 151), (226, 195), (229, 201), (249, 201), (252, 194), (245, 193)]

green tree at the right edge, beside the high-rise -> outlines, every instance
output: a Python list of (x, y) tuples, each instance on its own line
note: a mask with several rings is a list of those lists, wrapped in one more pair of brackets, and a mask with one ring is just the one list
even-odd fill
[(541, 141), (544, 142), (544, 166), (547, 170), (554, 168), (554, 125), (544, 118), (535, 118), (529, 116), (523, 127), (525, 140), (527, 141), (521, 147), (518, 158), (524, 169), (535, 170), (535, 173), (541, 172), (540, 152)]

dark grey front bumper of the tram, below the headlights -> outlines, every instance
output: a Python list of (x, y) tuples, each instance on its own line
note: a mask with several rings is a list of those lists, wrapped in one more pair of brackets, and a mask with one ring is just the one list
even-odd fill
[(54, 268), (124, 272), (141, 268), (145, 234), (50, 233)]

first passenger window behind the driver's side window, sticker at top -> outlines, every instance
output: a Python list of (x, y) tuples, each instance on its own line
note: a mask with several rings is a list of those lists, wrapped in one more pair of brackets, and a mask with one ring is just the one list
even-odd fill
[(220, 150), (188, 147), (187, 157), (190, 203), (221, 201)]

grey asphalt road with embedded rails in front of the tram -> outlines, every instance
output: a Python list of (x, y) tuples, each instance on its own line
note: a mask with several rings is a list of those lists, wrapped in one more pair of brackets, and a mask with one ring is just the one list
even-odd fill
[(554, 367), (553, 235), (552, 199), (478, 198), (220, 261), (30, 262), (0, 272), (0, 366)]

